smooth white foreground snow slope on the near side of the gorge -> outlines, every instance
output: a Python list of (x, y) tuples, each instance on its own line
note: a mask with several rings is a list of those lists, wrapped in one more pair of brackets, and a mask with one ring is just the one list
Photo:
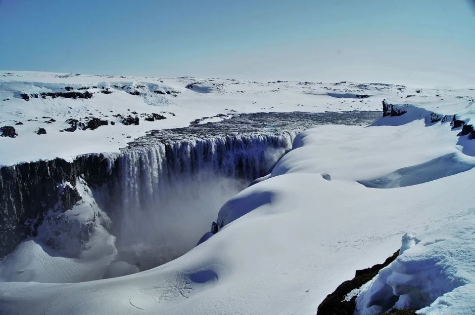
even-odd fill
[(391, 275), (415, 261), (402, 277), (414, 283), (438, 270), (421, 266), (435, 266), (444, 289), (427, 295), (421, 314), (474, 313), (474, 141), (449, 121), (427, 124), (428, 111), (407, 111), (368, 127), (302, 132), (268, 178), (221, 208), (219, 231), (176, 260), (90, 282), (3, 282), (0, 313), (315, 314), (339, 283), (384, 260), (409, 231), (421, 241), (404, 243), (387, 278), (397, 286), (401, 277)]

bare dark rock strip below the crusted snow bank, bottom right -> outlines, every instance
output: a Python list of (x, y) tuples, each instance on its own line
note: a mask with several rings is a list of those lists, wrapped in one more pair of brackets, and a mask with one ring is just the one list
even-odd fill
[[(317, 315), (353, 315), (356, 307), (356, 297), (350, 301), (344, 301), (345, 296), (353, 289), (361, 287), (363, 284), (374, 278), (379, 271), (393, 262), (399, 250), (388, 257), (384, 263), (374, 265), (371, 268), (357, 270), (355, 277), (341, 283), (335, 291), (329, 294), (318, 306)], [(394, 301), (395, 302), (395, 301)]]

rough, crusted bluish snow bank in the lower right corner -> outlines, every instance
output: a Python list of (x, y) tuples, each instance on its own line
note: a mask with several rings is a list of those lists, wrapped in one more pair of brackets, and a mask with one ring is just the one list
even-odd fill
[(404, 308), (426, 315), (474, 312), (475, 228), (467, 219), (447, 220), (453, 221), (424, 236), (408, 233), (402, 237), (396, 260), (361, 288), (356, 315)]

